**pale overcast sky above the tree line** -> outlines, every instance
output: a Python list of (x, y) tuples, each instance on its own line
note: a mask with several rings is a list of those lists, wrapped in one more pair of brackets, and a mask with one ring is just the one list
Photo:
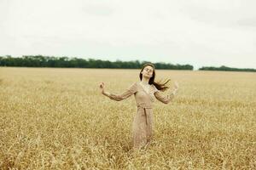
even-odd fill
[(0, 55), (256, 68), (255, 0), (0, 0)]

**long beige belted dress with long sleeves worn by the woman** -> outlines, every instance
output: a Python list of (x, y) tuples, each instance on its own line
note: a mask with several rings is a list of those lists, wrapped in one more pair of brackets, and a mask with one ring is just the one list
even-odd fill
[(153, 137), (153, 108), (154, 97), (164, 104), (168, 104), (172, 98), (170, 95), (162, 95), (160, 91), (150, 85), (147, 93), (139, 82), (134, 82), (126, 88), (123, 94), (110, 94), (109, 98), (120, 101), (134, 94), (137, 103), (137, 114), (132, 122), (132, 143), (134, 148), (141, 148)]

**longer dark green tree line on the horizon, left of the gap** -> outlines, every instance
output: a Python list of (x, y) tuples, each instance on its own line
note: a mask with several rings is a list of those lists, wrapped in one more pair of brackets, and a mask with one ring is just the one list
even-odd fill
[[(54, 57), (43, 55), (23, 55), (12, 57), (0, 56), (0, 66), (24, 66), (24, 67), (66, 67), (66, 68), (125, 68), (139, 69), (149, 61), (109, 61), (102, 59), (79, 59), (68, 57)], [(170, 63), (154, 63), (157, 69), (193, 70), (192, 65), (172, 65)]]

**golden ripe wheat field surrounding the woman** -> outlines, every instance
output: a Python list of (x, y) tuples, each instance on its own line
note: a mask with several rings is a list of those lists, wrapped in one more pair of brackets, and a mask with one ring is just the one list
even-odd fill
[[(256, 169), (256, 73), (160, 71), (154, 139), (131, 150), (139, 70), (0, 67), (1, 169)], [(163, 94), (168, 93), (163, 92)]]

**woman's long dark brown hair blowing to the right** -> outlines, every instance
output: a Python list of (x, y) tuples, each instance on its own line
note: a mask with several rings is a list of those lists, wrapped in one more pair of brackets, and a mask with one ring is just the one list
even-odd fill
[(166, 83), (169, 82), (169, 81), (171, 81), (171, 79), (168, 79), (166, 82), (163, 82), (163, 83), (154, 82), (155, 71), (154, 71), (154, 65), (153, 65), (152, 63), (145, 63), (145, 64), (143, 65), (143, 68), (142, 68), (142, 70), (140, 71), (140, 75), (139, 75), (140, 79), (141, 79), (141, 80), (143, 79), (142, 71), (143, 71), (144, 68), (145, 68), (146, 66), (148, 66), (148, 65), (153, 68), (153, 74), (152, 74), (152, 77), (150, 77), (148, 84), (154, 84), (155, 88), (157, 88), (158, 90), (160, 90), (160, 91), (166, 91), (166, 89), (169, 88), (168, 86), (166, 86)]

